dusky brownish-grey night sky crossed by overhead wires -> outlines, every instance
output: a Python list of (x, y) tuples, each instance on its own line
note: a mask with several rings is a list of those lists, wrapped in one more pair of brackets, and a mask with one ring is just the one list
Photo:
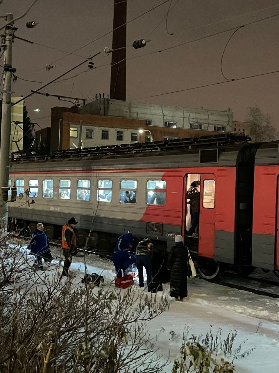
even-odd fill
[[(127, 0), (127, 20), (160, 4), (163, 0)], [(175, 4), (177, 0), (173, 0)], [(0, 15), (21, 15), (33, 0), (3, 0)], [(71, 52), (95, 38), (112, 30), (113, 0), (39, 0), (25, 18), (16, 22), (16, 36), (36, 43)], [(278, 6), (276, 6), (278, 4)], [(269, 9), (260, 10), (270, 7)], [(137, 38), (148, 38), (155, 26), (163, 19), (169, 2), (127, 26), (127, 45)], [(254, 12), (259, 10), (258, 12)], [(243, 15), (244, 13), (250, 13)], [(185, 43), (243, 23), (255, 21), (279, 13), (279, 0), (180, 0), (169, 13), (166, 32), (165, 20), (150, 36), (145, 48), (127, 48), (127, 57), (138, 57), (152, 51)], [(238, 16), (233, 18), (235, 16)], [(222, 21), (233, 18), (227, 21)], [(4, 23), (4, 19), (0, 19)], [(26, 21), (39, 24), (27, 29)], [(222, 22), (218, 22), (222, 21)], [(215, 23), (208, 25), (209, 23)], [(207, 26), (206, 26), (207, 25)], [(241, 28), (232, 37), (223, 59), (224, 74), (230, 79), (265, 73), (278, 69), (279, 60), (279, 16)], [(189, 29), (198, 29), (189, 31)], [(3, 31), (2, 31), (3, 32)], [(233, 31), (228, 31), (195, 43), (170, 49), (150, 56), (127, 61), (126, 99), (183, 90), (199, 85), (223, 81), (220, 62), (225, 44)], [(83, 57), (103, 52), (111, 47), (112, 34), (82, 48), (77, 54)], [(15, 39), (13, 44), (13, 67), (20, 78), (48, 82), (83, 60), (83, 57), (67, 56), (54, 63), (49, 72), (45, 65), (65, 56), (57, 50)], [(76, 78), (51, 84), (44, 92), (80, 98), (94, 97), (96, 93), (109, 93), (110, 56), (103, 53), (94, 59), (97, 69), (85, 72)], [(3, 57), (0, 63), (3, 63)], [(39, 70), (40, 69), (40, 70)], [(71, 77), (87, 69), (87, 63), (65, 76)], [(36, 72), (36, 70), (39, 70)], [(41, 85), (18, 79), (14, 95), (27, 95)], [(257, 103), (273, 118), (279, 127), (278, 112), (279, 73), (229, 82), (207, 88), (145, 98), (142, 102), (201, 107), (234, 112), (235, 120), (245, 120), (247, 107)], [(57, 98), (38, 94), (26, 100), (29, 116), (40, 125), (50, 125), (51, 107), (72, 106)], [(41, 112), (33, 110), (38, 107)], [(46, 118), (43, 118), (46, 117)]]

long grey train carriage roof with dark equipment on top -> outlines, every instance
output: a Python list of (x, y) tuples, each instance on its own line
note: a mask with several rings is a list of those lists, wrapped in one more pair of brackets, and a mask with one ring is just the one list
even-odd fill
[(51, 157), (12, 159), (12, 172), (23, 170), (154, 169), (235, 166), (250, 138), (244, 134), (218, 134), (152, 143), (136, 143), (62, 150)]

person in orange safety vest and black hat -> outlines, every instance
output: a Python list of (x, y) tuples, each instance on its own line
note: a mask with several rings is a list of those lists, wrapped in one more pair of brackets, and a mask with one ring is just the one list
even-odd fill
[(77, 220), (71, 217), (62, 228), (62, 249), (65, 257), (61, 276), (68, 276), (73, 256), (77, 254), (76, 229)]

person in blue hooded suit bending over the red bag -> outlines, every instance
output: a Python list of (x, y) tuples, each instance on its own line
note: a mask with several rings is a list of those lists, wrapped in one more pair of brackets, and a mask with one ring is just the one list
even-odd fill
[(135, 263), (135, 255), (128, 253), (128, 250), (132, 248), (133, 244), (134, 238), (130, 232), (118, 238), (114, 248), (114, 253), (112, 254), (116, 277), (124, 277), (125, 270), (131, 266), (132, 263)]

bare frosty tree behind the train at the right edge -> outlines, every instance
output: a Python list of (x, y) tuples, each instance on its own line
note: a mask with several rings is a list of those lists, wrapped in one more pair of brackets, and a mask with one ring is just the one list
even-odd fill
[(248, 107), (247, 120), (250, 123), (250, 136), (253, 142), (273, 141), (278, 138), (279, 133), (272, 125), (271, 117), (268, 114), (263, 114), (260, 107)]

